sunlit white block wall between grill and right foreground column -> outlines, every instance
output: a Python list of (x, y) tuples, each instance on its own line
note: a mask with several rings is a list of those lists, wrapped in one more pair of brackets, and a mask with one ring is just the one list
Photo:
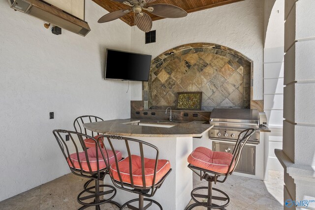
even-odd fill
[(275, 149), (281, 149), (283, 144), (284, 0), (265, 1), (265, 22), (268, 27), (264, 46), (264, 112), (271, 130), (271, 133), (264, 133), (265, 180), (268, 180), (268, 169), (283, 171)]

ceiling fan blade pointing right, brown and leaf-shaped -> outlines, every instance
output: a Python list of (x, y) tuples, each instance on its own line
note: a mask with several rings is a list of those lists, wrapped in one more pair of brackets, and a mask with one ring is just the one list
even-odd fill
[(187, 16), (187, 12), (184, 9), (172, 4), (157, 3), (150, 6), (154, 9), (151, 13), (162, 18), (182, 18)]

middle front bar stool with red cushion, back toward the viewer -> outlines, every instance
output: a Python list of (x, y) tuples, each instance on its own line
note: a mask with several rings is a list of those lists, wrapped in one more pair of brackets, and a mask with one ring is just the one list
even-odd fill
[[(172, 171), (171, 164), (168, 160), (158, 159), (158, 148), (144, 141), (121, 136), (101, 135), (99, 139), (101, 141), (104, 140), (104, 145), (108, 144), (110, 146), (108, 148), (111, 148), (112, 151), (115, 151), (117, 144), (126, 148), (128, 153), (125, 159), (119, 161), (118, 155), (113, 152), (115, 157), (114, 163), (110, 165), (108, 160), (105, 161), (108, 162), (109, 175), (114, 185), (119, 189), (139, 195), (139, 198), (127, 201), (123, 204), (121, 210), (126, 206), (131, 210), (146, 210), (153, 203), (162, 210), (162, 206), (157, 201), (144, 198), (153, 197), (157, 189), (161, 187), (165, 178)], [(136, 150), (140, 151), (140, 155), (134, 154)], [(106, 153), (110, 152), (106, 147), (105, 151)], [(148, 153), (155, 158), (150, 159), (144, 157), (145, 151), (146, 154)], [(131, 203), (137, 201), (139, 202), (138, 207), (131, 206)], [(149, 203), (144, 206), (144, 201), (149, 201)]]

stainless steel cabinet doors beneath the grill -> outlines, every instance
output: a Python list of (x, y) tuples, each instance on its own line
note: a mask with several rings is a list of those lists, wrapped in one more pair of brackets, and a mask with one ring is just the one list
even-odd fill
[[(214, 151), (233, 153), (235, 143), (212, 142)], [(255, 146), (245, 145), (235, 172), (255, 175)]]

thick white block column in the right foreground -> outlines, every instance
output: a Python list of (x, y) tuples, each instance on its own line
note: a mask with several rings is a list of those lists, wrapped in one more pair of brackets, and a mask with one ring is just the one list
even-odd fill
[(285, 0), (284, 52), (284, 202), (315, 200), (315, 0)]

